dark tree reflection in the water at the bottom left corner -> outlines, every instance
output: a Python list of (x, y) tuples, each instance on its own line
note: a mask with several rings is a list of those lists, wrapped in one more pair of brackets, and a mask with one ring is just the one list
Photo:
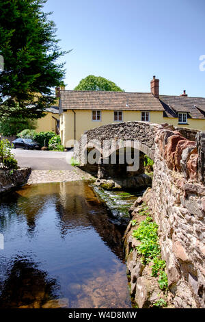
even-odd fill
[(0, 308), (40, 308), (55, 298), (59, 288), (54, 278), (28, 258), (16, 258), (6, 275), (1, 284)]

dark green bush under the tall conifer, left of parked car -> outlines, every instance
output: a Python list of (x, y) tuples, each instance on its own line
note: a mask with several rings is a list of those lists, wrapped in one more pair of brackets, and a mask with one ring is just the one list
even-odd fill
[(23, 129), (35, 129), (36, 123), (30, 119), (22, 117), (5, 117), (0, 121), (0, 134), (3, 136), (13, 136), (23, 131)]

